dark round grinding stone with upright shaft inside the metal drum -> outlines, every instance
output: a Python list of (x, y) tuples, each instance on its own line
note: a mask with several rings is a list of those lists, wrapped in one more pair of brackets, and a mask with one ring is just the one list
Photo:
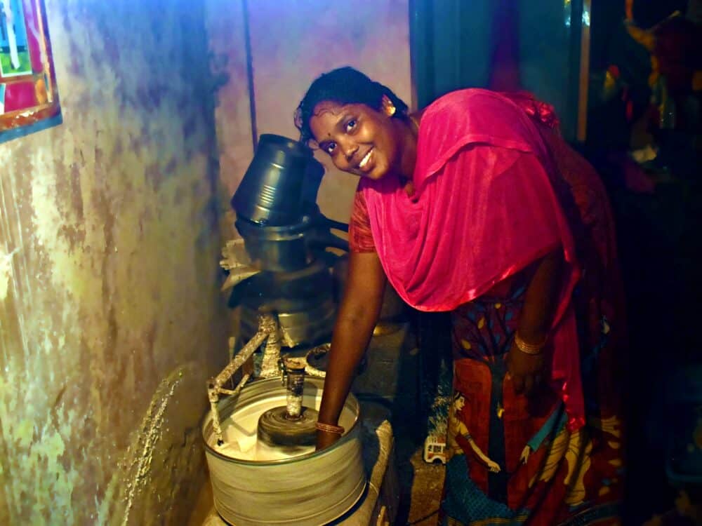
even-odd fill
[(287, 375), (285, 406), (273, 407), (258, 419), (258, 440), (270, 447), (314, 445), (319, 413), (303, 407), (305, 358), (283, 358)]

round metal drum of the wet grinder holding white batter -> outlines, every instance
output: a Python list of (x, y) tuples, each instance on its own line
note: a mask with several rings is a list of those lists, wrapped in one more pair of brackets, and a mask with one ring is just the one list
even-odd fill
[[(324, 381), (305, 379), (303, 405), (319, 409)], [(360, 407), (349, 395), (340, 417), (347, 430), (325, 450), (300, 450), (297, 456), (261, 457), (256, 447), (260, 414), (284, 404), (280, 379), (257, 380), (237, 396), (218, 403), (224, 445), (217, 445), (211, 411), (202, 424), (215, 508), (237, 526), (317, 526), (340, 517), (366, 487), (361, 451)]]

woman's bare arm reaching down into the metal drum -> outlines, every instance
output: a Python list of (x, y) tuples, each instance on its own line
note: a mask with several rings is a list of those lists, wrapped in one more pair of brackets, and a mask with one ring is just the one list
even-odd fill
[[(323, 424), (338, 424), (356, 368), (378, 322), (385, 281), (376, 252), (350, 252), (346, 289), (331, 337), (322, 406), (319, 407), (319, 422)], [(338, 438), (335, 433), (317, 431), (317, 450)]]

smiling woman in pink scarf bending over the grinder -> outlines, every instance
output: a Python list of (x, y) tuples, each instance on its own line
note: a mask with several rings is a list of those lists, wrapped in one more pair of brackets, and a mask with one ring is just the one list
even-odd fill
[(338, 415), (390, 281), (416, 309), (451, 311), (465, 404), (449, 438), (463, 454), (446, 465), (442, 523), (616, 524), (614, 235), (602, 184), (557, 135), (552, 109), (470, 89), (409, 115), (346, 67), (312, 83), (296, 124), (360, 176), (317, 447), (343, 433)]

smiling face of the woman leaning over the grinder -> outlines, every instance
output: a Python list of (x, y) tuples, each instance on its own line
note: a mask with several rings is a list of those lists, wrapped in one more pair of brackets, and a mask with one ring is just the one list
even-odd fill
[(370, 179), (401, 170), (402, 126), (392, 119), (388, 103), (384, 98), (380, 111), (366, 104), (317, 104), (310, 129), (334, 166)]

